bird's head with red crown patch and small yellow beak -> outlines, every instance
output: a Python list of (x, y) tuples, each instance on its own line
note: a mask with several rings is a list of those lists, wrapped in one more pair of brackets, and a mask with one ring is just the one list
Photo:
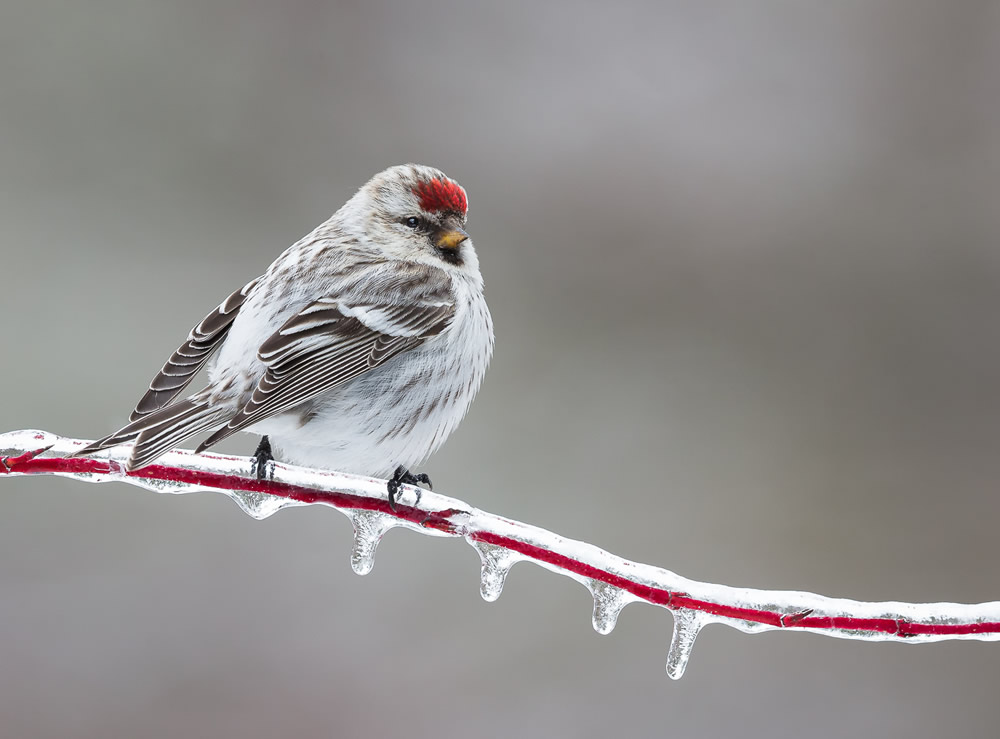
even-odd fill
[(420, 164), (390, 167), (369, 180), (342, 215), (352, 235), (388, 257), (445, 268), (475, 266), (465, 231), (465, 189), (439, 169)]

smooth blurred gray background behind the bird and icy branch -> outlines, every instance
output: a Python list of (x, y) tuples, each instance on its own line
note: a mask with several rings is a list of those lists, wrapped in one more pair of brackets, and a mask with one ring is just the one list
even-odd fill
[[(443, 168), (496, 358), (439, 491), (687, 576), (1000, 596), (1000, 4), (8, 0), (0, 427), (94, 438), (376, 171)], [(227, 447), (249, 453), (252, 437)], [(0, 733), (992, 736), (1000, 645), (597, 636), (458, 541), (2, 483)]]

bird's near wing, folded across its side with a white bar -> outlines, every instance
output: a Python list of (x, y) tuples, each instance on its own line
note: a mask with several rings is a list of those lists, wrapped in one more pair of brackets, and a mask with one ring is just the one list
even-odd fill
[(267, 370), (253, 396), (198, 451), (419, 346), (444, 331), (454, 315), (451, 301), (352, 305), (335, 297), (317, 300), (261, 344), (257, 356)]

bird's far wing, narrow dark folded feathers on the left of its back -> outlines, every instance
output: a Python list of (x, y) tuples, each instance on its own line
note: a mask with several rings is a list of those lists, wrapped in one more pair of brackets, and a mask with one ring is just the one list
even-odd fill
[(258, 277), (234, 292), (222, 301), (218, 308), (205, 316), (201, 323), (191, 329), (187, 341), (178, 347), (163, 365), (163, 369), (149, 383), (149, 390), (136, 404), (129, 421), (137, 421), (166, 407), (188, 386), (191, 379), (198, 374), (198, 370), (222, 345), (243, 301), (259, 280)]

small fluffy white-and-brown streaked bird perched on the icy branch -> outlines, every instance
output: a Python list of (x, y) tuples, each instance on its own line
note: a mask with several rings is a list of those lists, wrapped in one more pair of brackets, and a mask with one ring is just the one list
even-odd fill
[[(195, 326), (130, 422), (77, 452), (135, 442), (128, 469), (195, 434), (237, 431), (272, 459), (430, 486), (410, 468), (455, 430), (493, 353), (465, 190), (433, 167), (375, 175)], [(178, 399), (208, 365), (208, 384)], [(272, 468), (273, 469), (273, 468)]]

